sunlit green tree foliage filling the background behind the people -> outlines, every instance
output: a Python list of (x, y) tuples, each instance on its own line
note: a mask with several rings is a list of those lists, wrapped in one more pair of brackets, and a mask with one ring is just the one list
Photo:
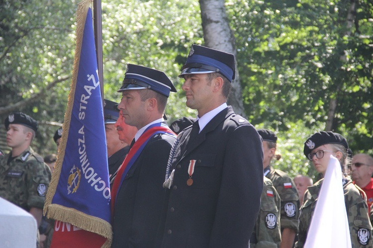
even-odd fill
[[(38, 119), (41, 155), (56, 149), (58, 127), (46, 122), (64, 118), (77, 2), (0, 3), (0, 120), (12, 110)], [(256, 127), (277, 132), (282, 159), (276, 166), (315, 175), (303, 143), (325, 129), (331, 99), (337, 103), (332, 129), (355, 153), (373, 152), (372, 1), (227, 0), (226, 9), (246, 115)], [(177, 76), (190, 45), (204, 43), (197, 0), (103, 1), (102, 35), (105, 98), (119, 101), (126, 63), (139, 64), (165, 71), (175, 83), (179, 92), (166, 109), (170, 122), (195, 115)]]

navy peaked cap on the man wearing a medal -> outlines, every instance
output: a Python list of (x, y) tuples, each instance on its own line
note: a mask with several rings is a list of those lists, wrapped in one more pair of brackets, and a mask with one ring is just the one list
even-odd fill
[(236, 74), (234, 55), (193, 44), (179, 78), (184, 78), (187, 74), (215, 72), (232, 82)]

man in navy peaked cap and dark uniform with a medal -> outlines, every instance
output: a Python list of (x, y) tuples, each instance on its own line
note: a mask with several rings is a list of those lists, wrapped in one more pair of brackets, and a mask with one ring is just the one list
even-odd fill
[(254, 126), (226, 104), (234, 55), (193, 44), (179, 77), (198, 116), (170, 154), (161, 247), (247, 248), (263, 189), (263, 149)]

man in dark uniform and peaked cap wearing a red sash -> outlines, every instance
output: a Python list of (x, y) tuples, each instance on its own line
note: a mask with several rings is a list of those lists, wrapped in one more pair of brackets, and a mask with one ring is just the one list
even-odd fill
[(112, 247), (153, 248), (164, 196), (165, 170), (175, 133), (163, 117), (175, 86), (161, 71), (128, 64), (118, 92), (124, 121), (135, 126), (130, 151), (115, 176), (111, 192)]

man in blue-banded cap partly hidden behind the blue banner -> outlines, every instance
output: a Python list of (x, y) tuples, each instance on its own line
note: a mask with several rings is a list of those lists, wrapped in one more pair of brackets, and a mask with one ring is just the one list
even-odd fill
[[(118, 103), (104, 99), (103, 118), (105, 121), (107, 163), (109, 165), (110, 182), (114, 178), (116, 171), (128, 154), (130, 144), (130, 142), (126, 143), (125, 141), (119, 139), (119, 134), (115, 127), (115, 122), (119, 117), (119, 109), (117, 106)], [(133, 136), (135, 136), (135, 133)], [(110, 184), (110, 187), (111, 186), (112, 185)]]

